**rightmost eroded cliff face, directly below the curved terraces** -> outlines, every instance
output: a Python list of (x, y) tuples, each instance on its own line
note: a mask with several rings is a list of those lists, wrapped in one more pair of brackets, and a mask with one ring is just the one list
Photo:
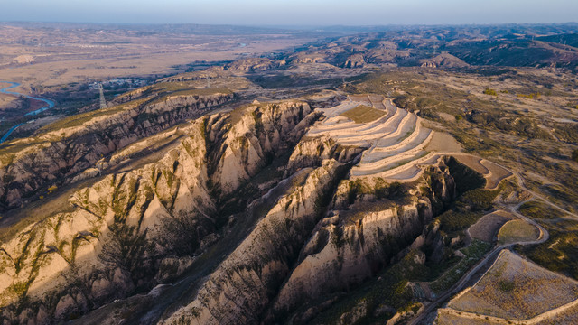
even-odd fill
[(375, 276), (440, 212), (432, 202), (447, 204), (454, 197), (453, 178), (443, 163), (430, 167), (428, 176), (406, 189), (396, 189), (395, 184), (384, 188), (385, 182), (376, 181), (341, 182), (328, 217), (303, 246), (270, 317)]

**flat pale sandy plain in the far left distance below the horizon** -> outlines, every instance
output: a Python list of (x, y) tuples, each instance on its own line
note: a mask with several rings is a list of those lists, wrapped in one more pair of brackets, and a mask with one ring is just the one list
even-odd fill
[(22, 83), (23, 88), (163, 76), (183, 72), (195, 61), (256, 57), (313, 39), (283, 32), (219, 35), (158, 32), (153, 28), (143, 35), (122, 29), (94, 32), (90, 28), (51, 30), (5, 25), (0, 26), (0, 76)]

